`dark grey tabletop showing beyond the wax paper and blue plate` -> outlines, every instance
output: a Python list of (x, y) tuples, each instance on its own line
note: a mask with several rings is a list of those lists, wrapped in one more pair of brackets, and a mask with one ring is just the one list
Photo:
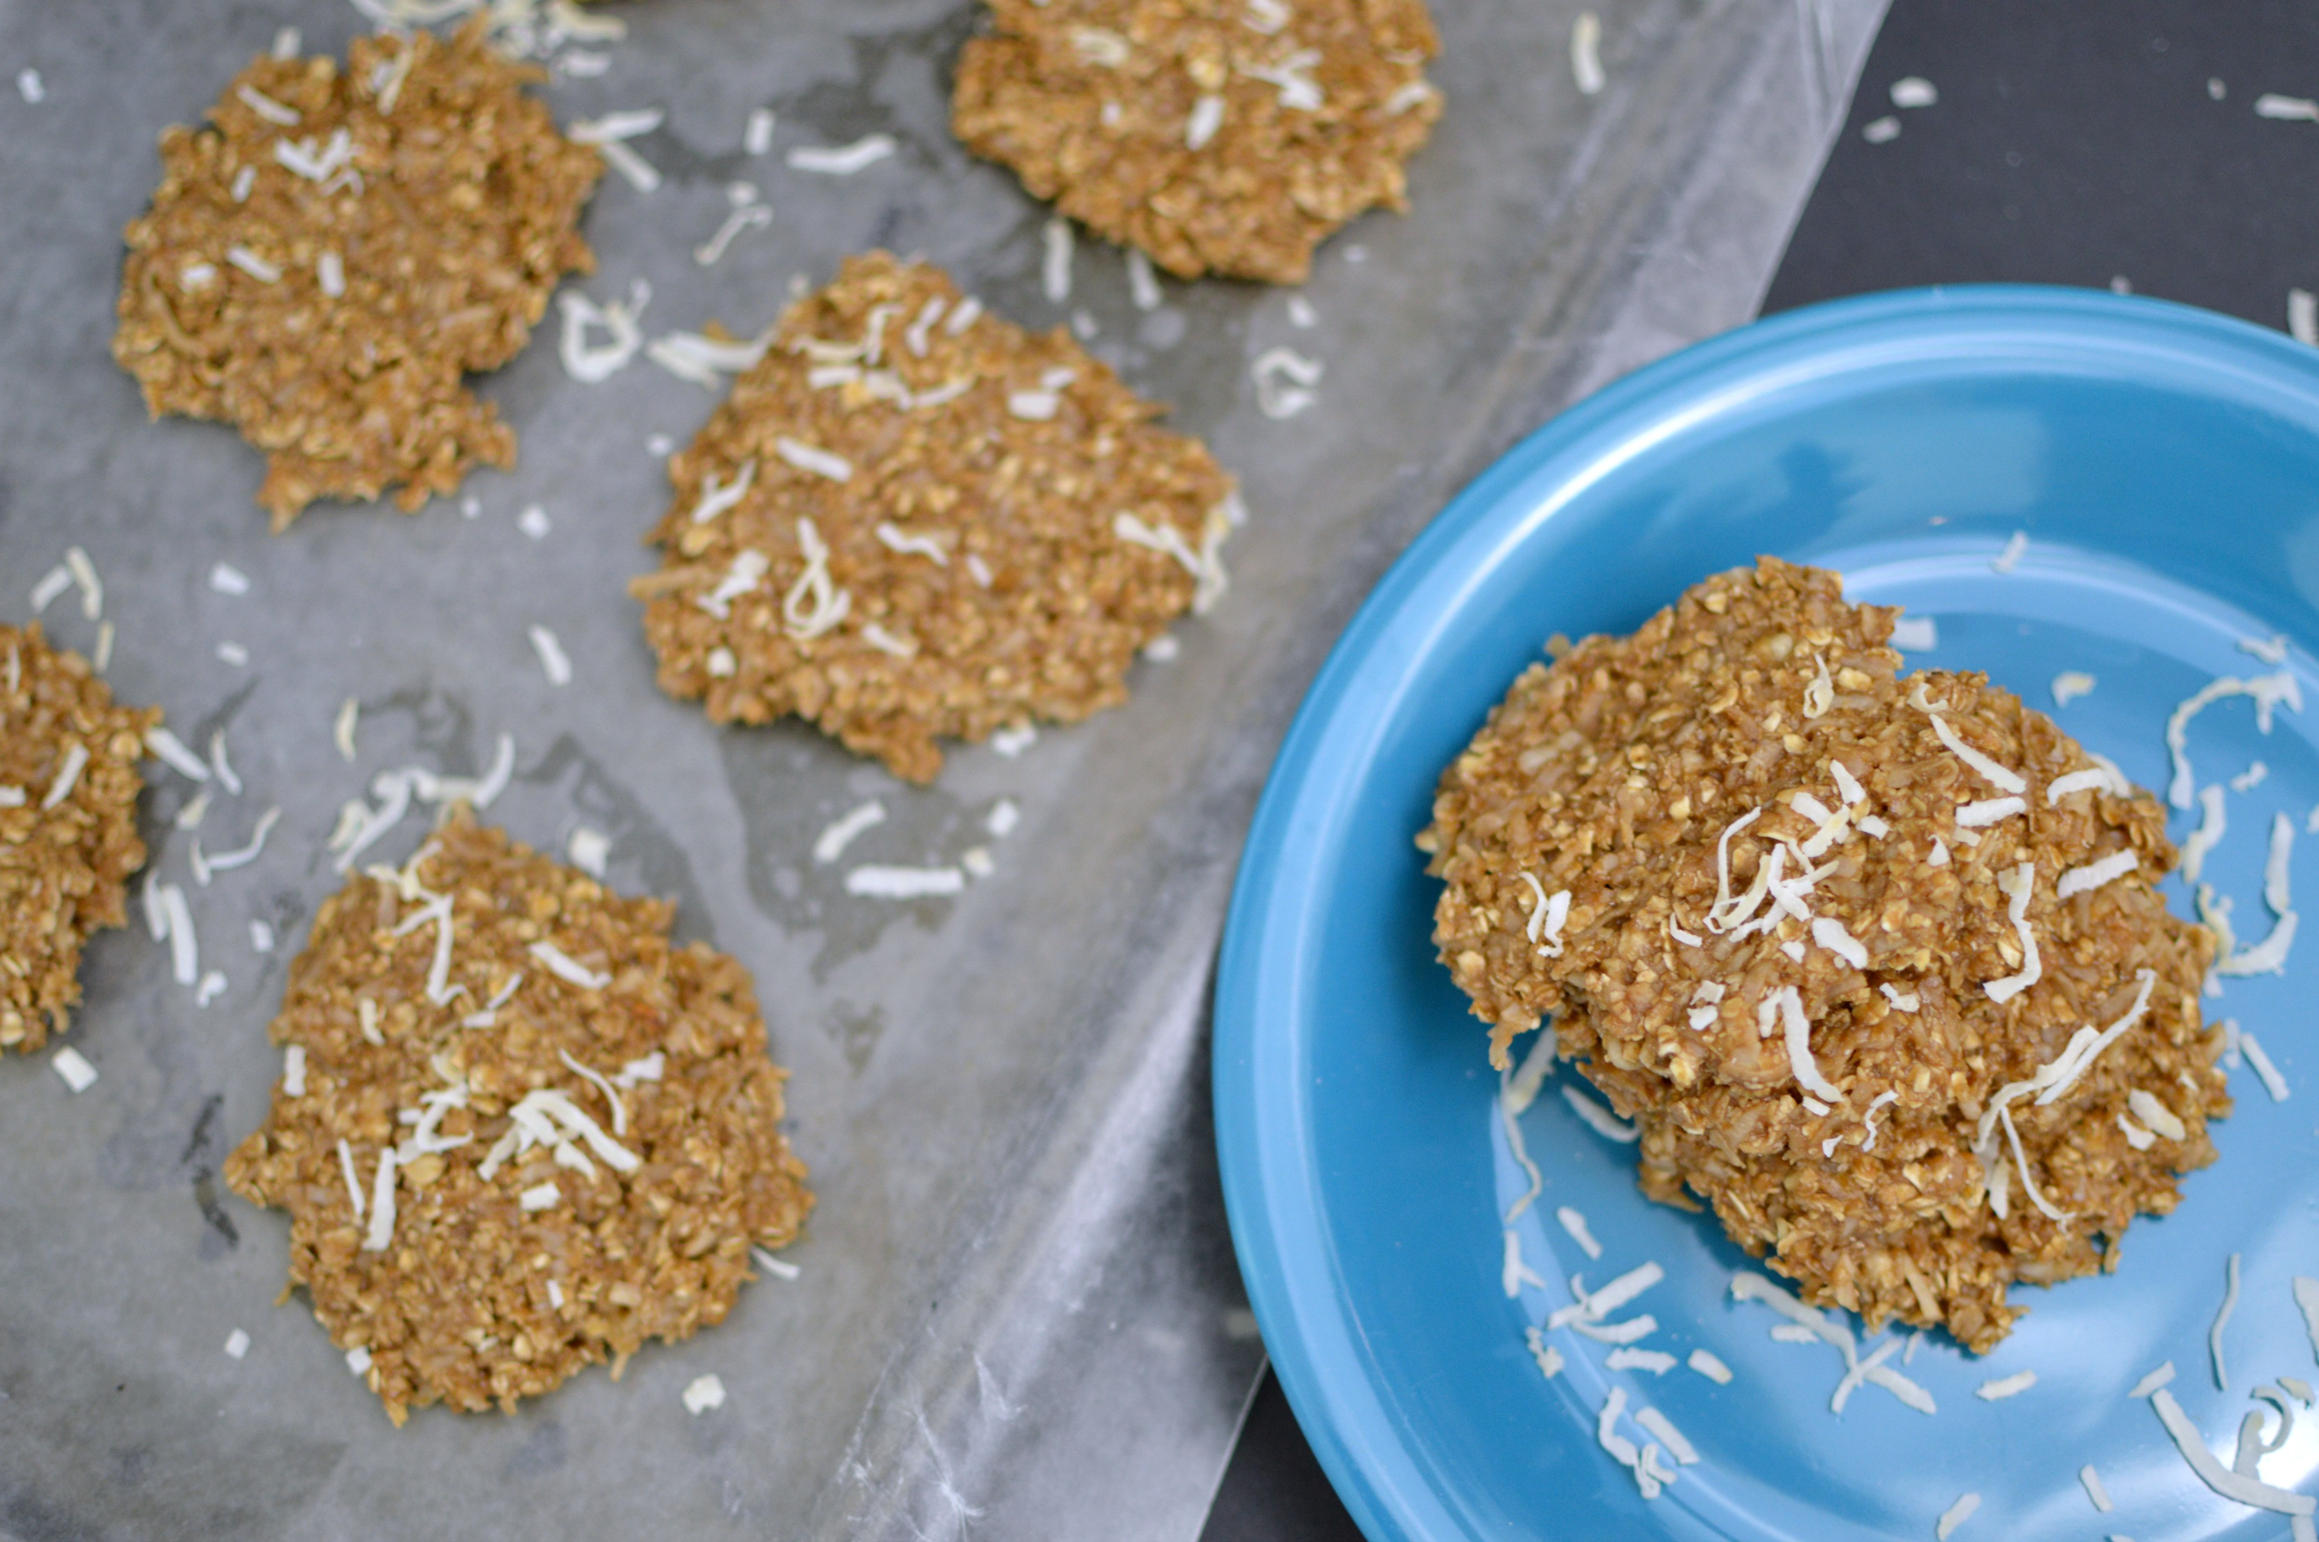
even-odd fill
[[(1906, 77), (1939, 102), (1895, 109)], [(1762, 308), (2122, 281), (2284, 327), (2289, 290), (2319, 290), (2319, 123), (2259, 118), (2263, 93), (2319, 95), (2319, 12), (1895, 0)], [(1871, 141), (1878, 118), (1902, 132)], [(1266, 1373), (1201, 1542), (1359, 1535)]]

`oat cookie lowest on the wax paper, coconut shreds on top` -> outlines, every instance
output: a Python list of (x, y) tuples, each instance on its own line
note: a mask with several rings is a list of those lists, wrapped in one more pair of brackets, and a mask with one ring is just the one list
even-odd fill
[(397, 1424), (617, 1377), (795, 1241), (814, 1196), (749, 972), (670, 918), (464, 812), (322, 902), (225, 1176), (290, 1210), (290, 1280)]

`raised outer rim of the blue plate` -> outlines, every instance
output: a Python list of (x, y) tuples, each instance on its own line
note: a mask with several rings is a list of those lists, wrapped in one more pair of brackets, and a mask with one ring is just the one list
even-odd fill
[(1303, 932), (1299, 914), (1315, 902), (1296, 853), (1329, 823), (1313, 816), (1313, 800), (1329, 802), (1347, 781), (1320, 765), (1324, 740), (1387, 631), (1461, 547), (1535, 536), (1600, 475), (1714, 422), (1718, 406), (1904, 362), (1987, 366), (1992, 355), (1969, 343), (1999, 332), (2013, 332), (2015, 346), (2059, 343), (2052, 366), (2066, 364), (2071, 343), (2099, 341), (2222, 369), (2261, 394), (2300, 376), (2303, 408), (2319, 431), (2319, 352), (2178, 301), (2055, 285), (1932, 285), (1802, 306), (1656, 359), (1517, 441), (1394, 559), (1306, 689), (1257, 800), (1224, 923), (1213, 995), (1215, 1145), (1234, 1254), (1273, 1370), (1331, 1486), (1373, 1542), (1468, 1533), (1426, 1484), (1373, 1384), (1357, 1350), (1359, 1324), (1326, 1310), (1343, 1296), (1324, 1243), (1320, 1173), (1301, 1139), (1303, 1088), (1257, 1074), (1266, 1060), (1271, 1069), (1282, 1055), (1294, 1062), (1299, 1043), (1289, 1011), (1296, 953), (1266, 944)]

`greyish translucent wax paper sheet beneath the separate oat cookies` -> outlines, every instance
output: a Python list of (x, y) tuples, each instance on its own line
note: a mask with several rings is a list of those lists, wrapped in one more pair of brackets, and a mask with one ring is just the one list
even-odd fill
[[(216, 424), (148, 424), (107, 355), (118, 232), (162, 125), (278, 28), (343, 51), (369, 21), (334, 0), (0, 0), (0, 77), (37, 72), (0, 83), (0, 614), (23, 619), (83, 547), (116, 691), (195, 747), (223, 733), (241, 781), (211, 784), (199, 830), (174, 823), (192, 781), (155, 765), (144, 802), (213, 999), (132, 923), (90, 946), (67, 1037), (100, 1081), (74, 1097), (46, 1057), (0, 1060), (0, 1535), (1197, 1535), (1262, 1366), (1217, 1199), (1206, 995), (1280, 733), (1461, 482), (1753, 313), (1881, 5), (1609, 0), (1595, 95), (1570, 67), (1579, 5), (1435, 12), (1447, 114), (1412, 211), (1331, 241), (1303, 306), (1164, 283), (1141, 311), (1092, 239), (1051, 299), (1046, 211), (946, 132), (979, 14), (962, 0), (649, 0), (591, 7), (621, 39), (550, 49), (559, 118), (666, 111), (631, 141), (661, 186), (605, 179), (598, 271), (577, 281), (598, 301), (649, 281), (647, 334), (751, 334), (793, 276), (925, 253), (1018, 322), (1076, 322), (1243, 478), (1231, 594), (1139, 665), (1129, 705), (1016, 756), (960, 751), (921, 791), (795, 723), (719, 730), (654, 689), (624, 582), (666, 503), (654, 436), (682, 443), (714, 394), (642, 357), (582, 385), (543, 334), (482, 383), (522, 434), (517, 471), (417, 517), (318, 508), (267, 536), (257, 454)], [(763, 155), (756, 109), (775, 114)], [(853, 176), (786, 162), (877, 132), (897, 153)], [(705, 267), (693, 248), (742, 181), (772, 220)], [(1271, 348), (1322, 366), (1292, 417), (1259, 410), (1250, 364)], [(95, 647), (74, 594), (44, 621)], [(352, 763), (332, 733), (348, 698)], [(675, 897), (679, 934), (756, 972), (821, 1206), (795, 1280), (751, 1285), (619, 1384), (596, 1370), (515, 1417), (422, 1410), (397, 1431), (301, 1299), (276, 1303), (288, 1224), (218, 1166), (278, 1074), (264, 1025), (339, 883), (341, 802), (380, 770), (478, 774), (501, 733), (517, 763), (489, 819), (554, 851), (605, 835), (615, 886)], [(884, 823), (816, 863), (816, 835), (870, 800)], [(1002, 802), (1020, 812), (1004, 835)], [(264, 856), (197, 883), (195, 835), (230, 849), (267, 807)], [(853, 863), (974, 846), (993, 872), (955, 897), (844, 888)], [(728, 1398), (696, 1417), (679, 1394), (703, 1373)]]

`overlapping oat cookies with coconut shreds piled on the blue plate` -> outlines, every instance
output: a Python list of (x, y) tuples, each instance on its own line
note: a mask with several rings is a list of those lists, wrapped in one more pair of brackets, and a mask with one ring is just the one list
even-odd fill
[(1709, 577), (1531, 665), (1419, 846), (1493, 1064), (1551, 1016), (1646, 1194), (1983, 1352), (2013, 1280), (2115, 1268), (2215, 1159), (2212, 937), (2157, 893), (2157, 800), (1983, 675), (1899, 679), (1895, 614)]

